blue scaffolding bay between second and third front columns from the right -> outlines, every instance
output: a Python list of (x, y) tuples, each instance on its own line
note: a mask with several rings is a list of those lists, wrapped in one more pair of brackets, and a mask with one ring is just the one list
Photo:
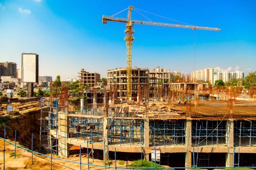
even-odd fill
[(150, 120), (150, 145), (184, 145), (185, 120)]

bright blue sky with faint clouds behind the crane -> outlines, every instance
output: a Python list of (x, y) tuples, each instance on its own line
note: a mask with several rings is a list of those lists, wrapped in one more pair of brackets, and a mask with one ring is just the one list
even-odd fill
[[(126, 67), (125, 24), (102, 24), (129, 5), (220, 32), (135, 25), (133, 67), (190, 72), (256, 70), (255, 0), (0, 0), (0, 61), (21, 66), (22, 52), (39, 54), (39, 75), (78, 76), (81, 68), (106, 77)], [(141, 12), (141, 11), (140, 11)], [(153, 21), (178, 23), (149, 13)], [(127, 17), (127, 11), (117, 15)], [(133, 19), (147, 20), (136, 11)]]

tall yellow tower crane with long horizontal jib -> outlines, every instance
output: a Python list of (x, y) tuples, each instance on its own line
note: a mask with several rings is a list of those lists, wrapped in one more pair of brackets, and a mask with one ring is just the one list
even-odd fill
[(132, 97), (132, 45), (133, 45), (133, 26), (134, 24), (144, 24), (144, 25), (156, 25), (156, 26), (163, 26), (163, 27), (176, 27), (176, 28), (187, 28), (192, 30), (209, 30), (209, 31), (220, 31), (218, 28), (212, 27), (202, 27), (202, 26), (195, 26), (195, 25), (182, 25), (182, 24), (172, 24), (172, 23), (163, 23), (163, 22), (154, 22), (154, 21), (142, 21), (142, 20), (134, 20), (132, 19), (132, 10), (135, 8), (133, 6), (128, 7), (128, 16), (127, 18), (120, 18), (120, 17), (113, 17), (113, 16), (102, 16), (102, 23), (107, 24), (108, 21), (115, 21), (115, 22), (124, 22), (126, 23), (126, 29), (124, 33), (126, 36), (124, 40), (126, 41), (126, 69), (127, 69), (127, 86), (126, 86), (126, 99), (131, 100)]

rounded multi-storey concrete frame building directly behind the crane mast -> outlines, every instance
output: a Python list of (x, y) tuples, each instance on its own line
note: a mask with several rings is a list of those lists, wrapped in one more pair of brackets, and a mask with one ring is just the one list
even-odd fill
[[(114, 92), (113, 98), (125, 99), (127, 91), (127, 69), (116, 68), (107, 71), (107, 84), (109, 91)], [(132, 97), (137, 100), (138, 90), (149, 85), (149, 69), (132, 69)]]

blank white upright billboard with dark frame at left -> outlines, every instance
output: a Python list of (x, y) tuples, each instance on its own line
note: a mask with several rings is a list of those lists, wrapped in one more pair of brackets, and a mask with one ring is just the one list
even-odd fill
[(38, 54), (21, 54), (21, 78), (22, 82), (38, 83)]

